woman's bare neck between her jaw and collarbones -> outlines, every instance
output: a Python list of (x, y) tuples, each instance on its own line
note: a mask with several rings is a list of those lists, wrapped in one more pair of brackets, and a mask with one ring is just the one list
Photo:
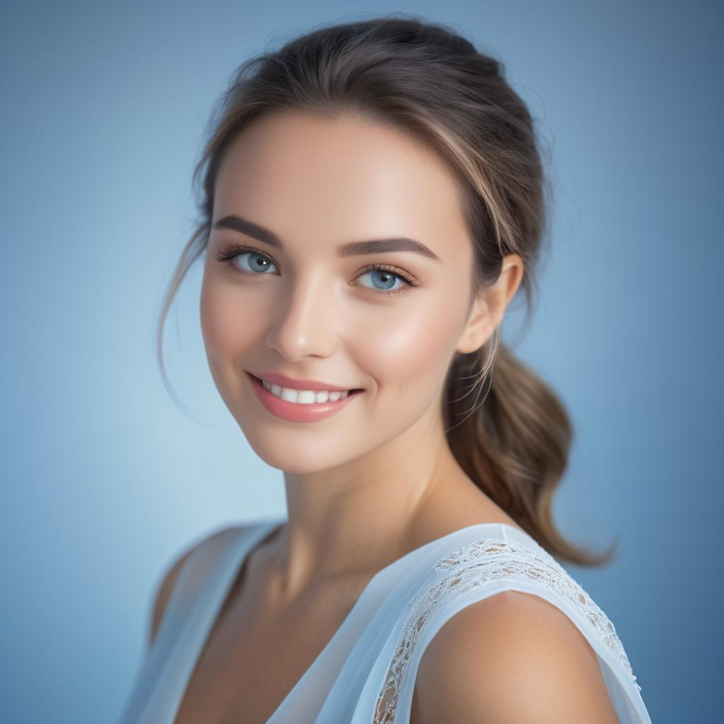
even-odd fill
[(285, 473), (288, 521), (269, 555), (285, 601), (334, 578), (369, 578), (424, 542), (422, 521), (440, 515), (442, 493), (473, 486), (435, 432), (413, 428), (344, 466)]

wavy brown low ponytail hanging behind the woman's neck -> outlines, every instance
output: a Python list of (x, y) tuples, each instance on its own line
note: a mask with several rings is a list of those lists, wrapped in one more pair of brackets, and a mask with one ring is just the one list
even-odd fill
[[(552, 517), (553, 494), (568, 464), (572, 428), (550, 387), (497, 344), (494, 363), (466, 384), (484, 353), (458, 355), (445, 384), (447, 442), (466, 475), (551, 555), (578, 565), (603, 565), (612, 550), (594, 554), (569, 543)], [(473, 400), (471, 401), (471, 397)]]

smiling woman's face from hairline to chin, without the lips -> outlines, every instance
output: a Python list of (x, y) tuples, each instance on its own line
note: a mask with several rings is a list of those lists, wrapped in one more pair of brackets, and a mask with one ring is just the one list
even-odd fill
[[(234, 216), (273, 237), (257, 238)], [(428, 251), (382, 243), (340, 252), (393, 237)], [(252, 251), (219, 260), (235, 246)], [(305, 111), (247, 127), (216, 177), (201, 326), (216, 387), (257, 454), (311, 473), (439, 421), (472, 264), (455, 182), (408, 135)], [(363, 392), (330, 416), (292, 421), (266, 408), (249, 373)]]

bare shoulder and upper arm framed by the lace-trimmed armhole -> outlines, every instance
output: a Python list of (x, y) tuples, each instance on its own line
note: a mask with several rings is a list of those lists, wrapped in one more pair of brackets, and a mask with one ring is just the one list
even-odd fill
[(617, 724), (596, 654), (542, 597), (505, 591), (464, 607), (418, 668), (414, 724)]

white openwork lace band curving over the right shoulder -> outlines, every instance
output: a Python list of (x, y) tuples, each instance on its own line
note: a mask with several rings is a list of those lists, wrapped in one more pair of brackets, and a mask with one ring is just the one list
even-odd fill
[(392, 724), (394, 721), (403, 675), (430, 615), (442, 602), (498, 578), (535, 581), (568, 600), (581, 618), (588, 622), (595, 635), (621, 662), (636, 689), (641, 691), (613, 623), (581, 585), (573, 580), (543, 547), (533, 550), (517, 542), (486, 538), (464, 545), (452, 555), (441, 558), (435, 564), (434, 570), (436, 576), (433, 583), (421, 589), (405, 609), (400, 640), (387, 668), (384, 686), (377, 697), (374, 724)]

